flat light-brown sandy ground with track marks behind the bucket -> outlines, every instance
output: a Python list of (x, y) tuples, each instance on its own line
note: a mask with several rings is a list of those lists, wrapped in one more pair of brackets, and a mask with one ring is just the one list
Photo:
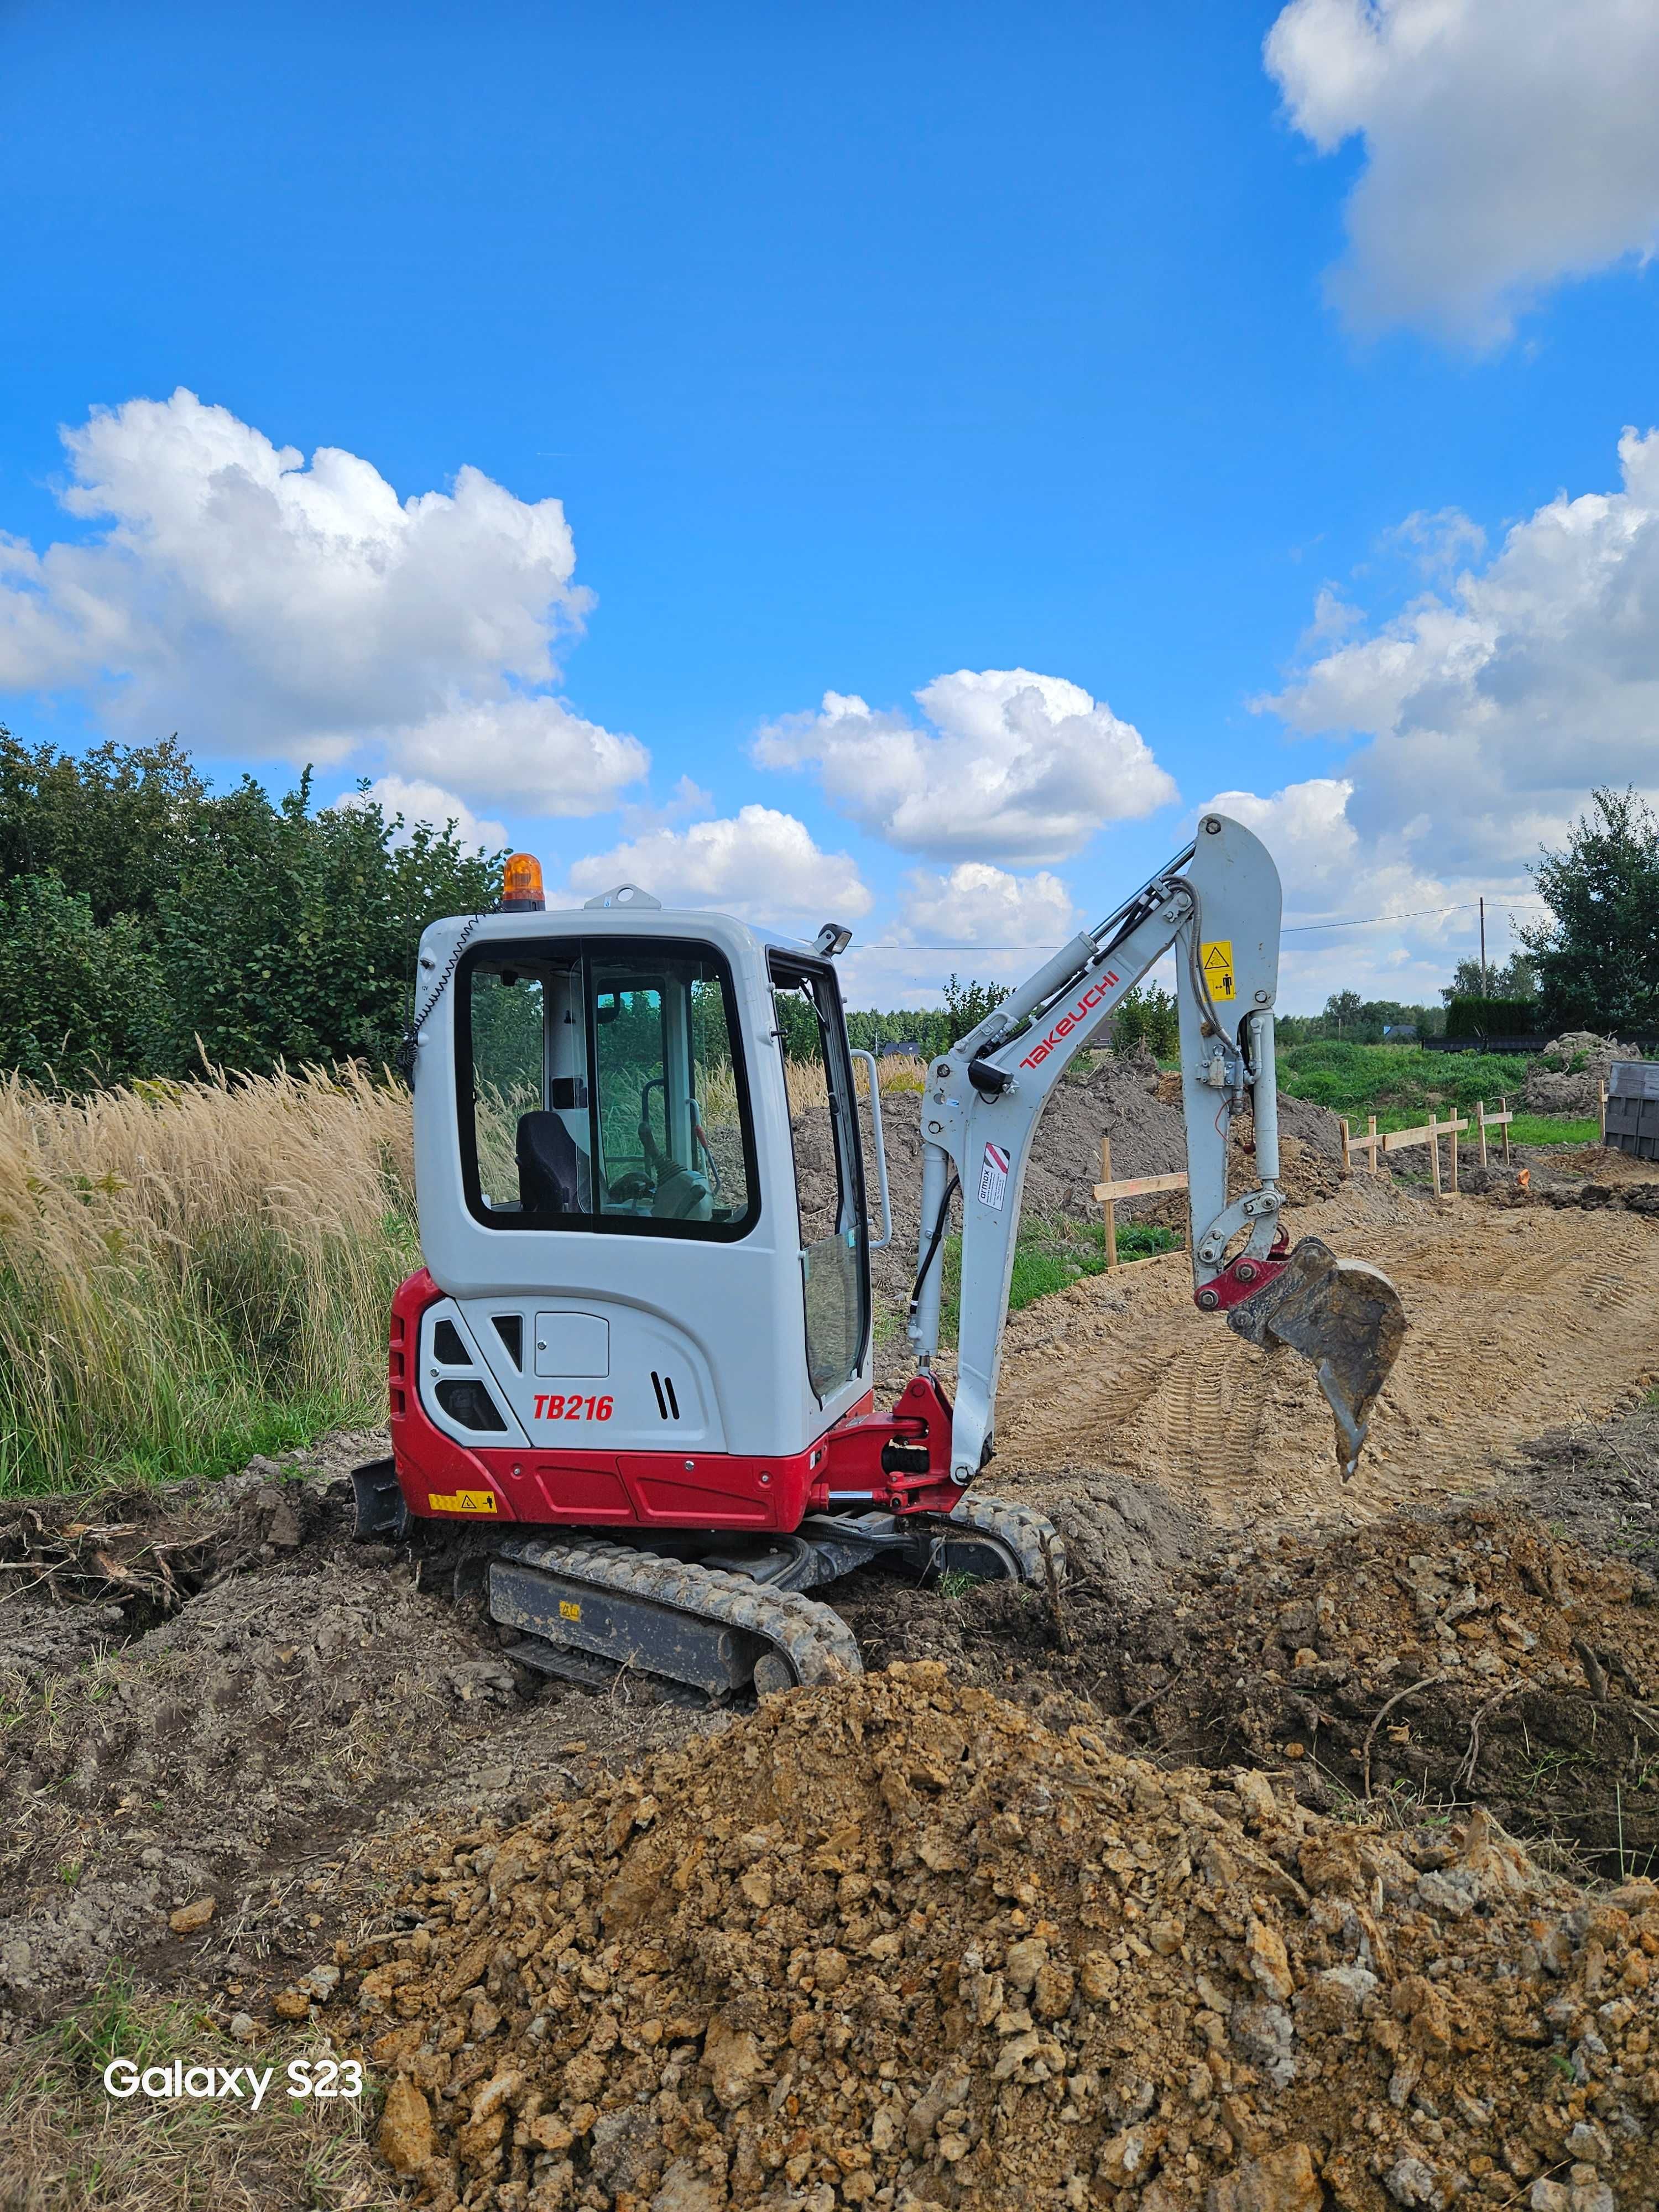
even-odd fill
[(1659, 1228), (1641, 1214), (1436, 1206), (1360, 1175), (1296, 1230), (1383, 1267), (1407, 1310), (1347, 1489), (1310, 1363), (1263, 1356), (1199, 1314), (1181, 1254), (1073, 1283), (1013, 1318), (995, 1486), (1051, 1498), (1099, 1473), (1150, 1480), (1223, 1526), (1336, 1506), (1376, 1515), (1422, 1491), (1491, 1484), (1528, 1438), (1604, 1420), (1659, 1365)]

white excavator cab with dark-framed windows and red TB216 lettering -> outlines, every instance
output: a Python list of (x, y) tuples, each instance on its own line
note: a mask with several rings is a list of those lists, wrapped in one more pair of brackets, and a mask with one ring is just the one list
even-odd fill
[[(830, 960), (641, 891), (438, 922), (420, 960), (449, 978), (416, 1084), (420, 1239), (447, 1294), (420, 1323), (434, 1425), (515, 1453), (495, 1506), (515, 1517), (573, 1517), (571, 1489), (584, 1520), (597, 1491), (599, 1517), (706, 1517), (701, 1455), (768, 1462), (752, 1489), (787, 1480), (770, 1462), (869, 1396), (869, 1223)], [(593, 1464), (542, 1464), (571, 1451)], [(633, 1453), (650, 1464), (617, 1464)], [(730, 1511), (737, 1469), (708, 1473)]]

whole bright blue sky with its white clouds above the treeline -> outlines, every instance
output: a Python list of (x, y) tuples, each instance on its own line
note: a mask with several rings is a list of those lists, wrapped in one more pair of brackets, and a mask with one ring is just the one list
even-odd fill
[(1431, 995), (1659, 785), (1657, 95), (1635, 0), (0, 4), (0, 719), (883, 1002), (1248, 794), (1413, 916), (1285, 1004)]

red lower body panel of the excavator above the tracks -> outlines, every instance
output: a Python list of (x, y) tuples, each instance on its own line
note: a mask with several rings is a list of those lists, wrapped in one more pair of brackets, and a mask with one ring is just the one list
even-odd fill
[[(914, 1376), (891, 1413), (874, 1396), (805, 1451), (544, 1451), (458, 1444), (420, 1405), (414, 1349), (420, 1314), (442, 1298), (427, 1270), (392, 1301), (392, 1458), (403, 1500), (420, 1520), (509, 1520), (613, 1528), (796, 1528), (830, 1502), (867, 1498), (894, 1513), (949, 1513), (951, 1409), (931, 1376)], [(925, 1469), (883, 1469), (889, 1444), (918, 1447)], [(442, 1502), (440, 1502), (442, 1500)]]

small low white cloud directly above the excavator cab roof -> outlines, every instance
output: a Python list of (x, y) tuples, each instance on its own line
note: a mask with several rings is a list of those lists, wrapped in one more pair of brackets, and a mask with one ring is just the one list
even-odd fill
[(637, 883), (666, 907), (712, 907), (807, 933), (856, 920), (872, 905), (849, 854), (821, 852), (794, 814), (754, 805), (688, 830), (648, 830), (571, 869), (577, 898), (617, 883)]

